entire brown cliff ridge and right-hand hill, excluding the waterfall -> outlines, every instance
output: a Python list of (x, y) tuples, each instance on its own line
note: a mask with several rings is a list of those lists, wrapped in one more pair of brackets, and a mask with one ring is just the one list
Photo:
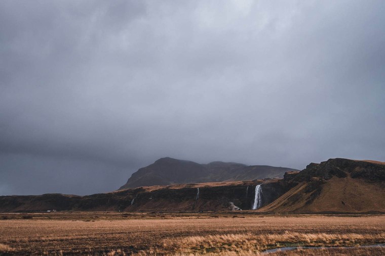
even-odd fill
[(205, 212), (250, 210), (261, 184), (262, 207), (253, 213), (385, 213), (385, 165), (330, 159), (283, 179), (138, 187), (87, 196), (0, 196), (0, 212)]

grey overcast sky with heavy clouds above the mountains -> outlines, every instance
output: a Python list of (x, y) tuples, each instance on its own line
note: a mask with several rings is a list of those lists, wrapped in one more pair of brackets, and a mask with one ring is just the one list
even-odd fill
[(162, 157), (385, 161), (385, 1), (0, 1), (0, 194)]

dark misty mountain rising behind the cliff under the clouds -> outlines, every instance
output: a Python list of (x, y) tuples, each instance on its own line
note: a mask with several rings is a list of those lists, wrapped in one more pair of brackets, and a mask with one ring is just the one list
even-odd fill
[(282, 178), (285, 172), (289, 171), (298, 170), (224, 162), (212, 162), (205, 165), (191, 161), (161, 158), (133, 173), (127, 183), (119, 189), (153, 185)]

